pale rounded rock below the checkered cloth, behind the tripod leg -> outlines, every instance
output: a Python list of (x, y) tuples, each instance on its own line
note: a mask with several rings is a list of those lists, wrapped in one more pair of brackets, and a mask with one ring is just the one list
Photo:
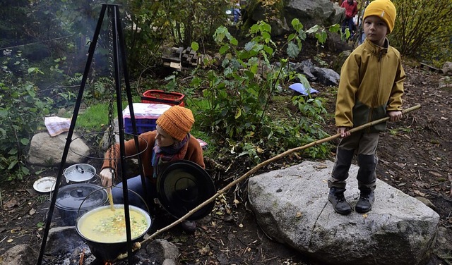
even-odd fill
[[(32, 137), (27, 161), (38, 166), (58, 166), (61, 163), (64, 147), (66, 146), (67, 132), (51, 137), (47, 132), (37, 133)], [(77, 139), (76, 139), (77, 138)], [(66, 158), (66, 164), (78, 164), (86, 161), (90, 148), (85, 142), (73, 133), (71, 149)]]

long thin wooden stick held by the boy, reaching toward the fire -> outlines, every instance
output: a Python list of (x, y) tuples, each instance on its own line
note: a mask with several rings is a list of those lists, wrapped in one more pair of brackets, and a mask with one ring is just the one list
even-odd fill
[[(416, 105), (416, 106), (412, 106), (408, 109), (405, 109), (402, 111), (403, 114), (408, 113), (410, 111), (415, 111), (417, 109), (420, 109), (421, 105)], [(379, 124), (379, 123), (383, 123), (384, 121), (388, 121), (389, 117), (386, 118), (381, 118), (379, 120), (376, 121), (371, 121), (370, 123), (366, 123), (363, 124), (361, 126), (358, 126), (356, 128), (352, 128), (349, 130), (349, 132), (357, 132), (359, 130), (362, 130), (364, 128), (369, 128), (373, 125)], [(215, 193), (215, 195), (213, 195), (212, 197), (210, 197), (209, 199), (207, 199), (205, 202), (203, 202), (202, 204), (199, 204), (196, 208), (192, 209), (191, 211), (189, 211), (188, 213), (186, 213), (184, 216), (182, 216), (181, 218), (177, 219), (176, 221), (174, 221), (173, 223), (169, 224), (168, 226), (165, 226), (164, 228), (155, 231), (155, 233), (153, 233), (152, 235), (149, 236), (149, 238), (146, 238), (145, 240), (143, 240), (141, 242), (141, 245), (144, 245), (148, 242), (150, 242), (150, 240), (153, 240), (153, 238), (155, 238), (157, 235), (160, 235), (160, 233), (165, 232), (166, 230), (169, 230), (170, 228), (173, 228), (174, 226), (177, 226), (177, 224), (182, 223), (182, 221), (184, 221), (186, 218), (188, 218), (189, 216), (191, 216), (191, 214), (194, 214), (196, 211), (198, 211), (199, 209), (205, 207), (207, 204), (210, 204), (210, 202), (213, 202), (217, 197), (219, 197), (220, 195), (222, 195), (223, 193), (227, 192), (227, 190), (229, 190), (231, 187), (234, 187), (234, 185), (237, 185), (237, 183), (242, 182), (242, 180), (245, 180), (246, 178), (248, 178), (251, 174), (255, 173), (259, 168), (262, 168), (263, 166), (266, 166), (268, 164), (270, 164), (273, 161), (276, 161), (284, 156), (287, 156), (288, 154), (292, 154), (293, 152), (298, 152), (301, 151), (303, 149), (307, 149), (309, 147), (313, 147), (316, 144), (322, 144), (323, 142), (328, 142), (331, 141), (333, 139), (336, 139), (340, 137), (340, 133), (336, 134), (336, 135), (332, 135), (330, 137), (326, 137), (323, 138), (321, 140), (317, 140), (315, 142), (311, 142), (309, 144), (303, 145), (302, 147), (295, 147), (292, 149), (287, 150), (286, 152), (283, 152), (281, 154), (278, 154), (277, 156), (273, 156), (272, 158), (261, 162), (260, 164), (258, 164), (257, 166), (255, 166), (254, 168), (251, 168), (251, 170), (249, 170), (248, 172), (246, 172), (244, 175), (242, 175), (240, 178), (237, 178), (236, 180), (232, 181), (231, 183), (229, 183), (228, 185), (226, 185), (225, 187), (223, 187), (221, 190), (218, 190), (217, 193)]]

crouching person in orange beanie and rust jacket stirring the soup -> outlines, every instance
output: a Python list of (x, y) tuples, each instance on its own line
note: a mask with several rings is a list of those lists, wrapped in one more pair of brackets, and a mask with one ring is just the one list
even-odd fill
[[(145, 187), (143, 190), (141, 176), (138, 175), (127, 180), (129, 189), (129, 203), (136, 207), (147, 210), (147, 205), (154, 204), (157, 197), (156, 180), (159, 171), (171, 161), (181, 159), (193, 161), (202, 168), (206, 168), (203, 159), (203, 150), (198, 140), (190, 134), (191, 126), (194, 124), (194, 116), (191, 110), (182, 106), (172, 106), (157, 118), (156, 130), (143, 132), (138, 137), (138, 148), (145, 150), (140, 156), (145, 173)], [(134, 140), (124, 142), (126, 156), (137, 154)], [(146, 149), (146, 147), (148, 147)], [(117, 171), (117, 161), (119, 157), (119, 144), (115, 144), (105, 153), (105, 160), (100, 171), (102, 185), (112, 187), (114, 171)], [(136, 196), (138, 194), (143, 200)], [(145, 198), (145, 193), (148, 197)], [(113, 201), (115, 204), (123, 204), (124, 196), (122, 183), (112, 188)], [(194, 233), (196, 223), (194, 221), (182, 222), (182, 228), (187, 233)]]

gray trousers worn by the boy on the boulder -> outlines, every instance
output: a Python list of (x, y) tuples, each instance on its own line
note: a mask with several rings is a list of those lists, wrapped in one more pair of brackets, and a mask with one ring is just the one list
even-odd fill
[(379, 143), (379, 133), (355, 132), (349, 137), (340, 140), (336, 153), (336, 161), (331, 177), (328, 178), (328, 187), (345, 190), (348, 171), (352, 165), (353, 156), (358, 161), (358, 188), (361, 192), (375, 190), (376, 187), (376, 146)]

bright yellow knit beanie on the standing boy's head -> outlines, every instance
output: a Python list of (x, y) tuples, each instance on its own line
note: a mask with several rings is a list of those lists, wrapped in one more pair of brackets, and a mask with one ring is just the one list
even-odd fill
[(379, 16), (388, 26), (389, 34), (394, 29), (396, 15), (396, 6), (394, 6), (393, 2), (389, 0), (375, 0), (371, 1), (369, 6), (367, 6), (362, 20), (364, 21), (368, 16)]

